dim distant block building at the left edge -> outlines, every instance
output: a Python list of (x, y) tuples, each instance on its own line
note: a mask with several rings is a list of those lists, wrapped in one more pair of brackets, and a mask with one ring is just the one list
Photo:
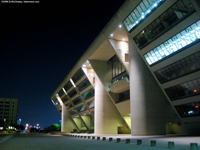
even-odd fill
[(17, 123), (18, 99), (0, 98), (0, 123), (10, 125)]

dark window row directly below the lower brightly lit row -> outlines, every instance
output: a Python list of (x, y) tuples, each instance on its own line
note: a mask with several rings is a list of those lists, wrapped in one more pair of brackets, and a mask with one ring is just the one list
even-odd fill
[(164, 83), (183, 75), (200, 70), (200, 51), (155, 71), (155, 75)]

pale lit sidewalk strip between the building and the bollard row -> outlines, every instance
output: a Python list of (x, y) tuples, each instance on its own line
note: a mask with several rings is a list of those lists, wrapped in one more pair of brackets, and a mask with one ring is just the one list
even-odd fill
[[(117, 141), (117, 138), (120, 138), (120, 143), (126, 144), (126, 139), (130, 139), (129, 144), (137, 145), (137, 140), (141, 140), (142, 144), (140, 146), (145, 147), (152, 147), (151, 141), (156, 141), (156, 145), (154, 148), (162, 148), (162, 149), (169, 149), (168, 142), (174, 142), (173, 149), (180, 149), (180, 150), (190, 150), (190, 143), (197, 143), (198, 149), (200, 149), (200, 136), (180, 136), (180, 135), (158, 135), (158, 136), (131, 136), (131, 135), (96, 135), (96, 134), (63, 134), (65, 136), (88, 139), (95, 137), (100, 137), (100, 141), (103, 140), (103, 137), (106, 138), (106, 141), (109, 141), (109, 138), (113, 138), (112, 142)], [(78, 137), (79, 136), (79, 137)], [(86, 136), (86, 137), (85, 137)], [(137, 145), (139, 146), (139, 145)]]

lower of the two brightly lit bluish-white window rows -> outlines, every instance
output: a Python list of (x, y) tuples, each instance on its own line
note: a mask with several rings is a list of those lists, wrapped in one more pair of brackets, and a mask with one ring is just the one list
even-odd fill
[(182, 50), (200, 39), (200, 21), (197, 21), (160, 44), (144, 55), (149, 65), (152, 65), (173, 53)]

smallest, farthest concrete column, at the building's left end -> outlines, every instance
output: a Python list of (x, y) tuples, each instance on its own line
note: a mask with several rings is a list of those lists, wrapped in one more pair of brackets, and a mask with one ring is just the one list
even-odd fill
[(65, 105), (62, 105), (61, 132), (71, 132), (77, 129)]

